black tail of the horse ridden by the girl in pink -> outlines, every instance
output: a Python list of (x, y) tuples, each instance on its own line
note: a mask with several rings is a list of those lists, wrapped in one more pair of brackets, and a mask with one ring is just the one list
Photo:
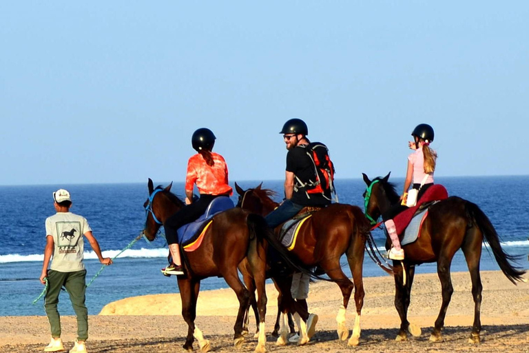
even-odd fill
[(504, 252), (501, 248), (499, 234), (496, 232), (490, 219), (488, 219), (488, 216), (484, 214), (478, 205), (470, 201), (466, 201), (465, 210), (473, 225), (477, 226), (477, 228), (481, 230), (481, 233), (484, 234), (484, 240), (490, 245), (492, 254), (494, 254), (501, 272), (504, 272), (505, 276), (512, 283), (516, 284), (516, 281), (525, 281), (522, 275), (525, 274), (526, 271), (510, 264), (510, 261), (518, 261), (519, 256), (512, 256)]

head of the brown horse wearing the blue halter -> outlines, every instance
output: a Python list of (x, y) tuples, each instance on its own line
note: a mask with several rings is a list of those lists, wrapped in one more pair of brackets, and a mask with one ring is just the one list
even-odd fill
[(143, 203), (146, 213), (143, 234), (149, 241), (154, 241), (163, 222), (184, 205), (178, 197), (171, 193), (172, 185), (173, 183), (170, 183), (165, 188), (161, 185), (154, 188), (152, 180), (149, 178), (147, 183), (149, 197)]

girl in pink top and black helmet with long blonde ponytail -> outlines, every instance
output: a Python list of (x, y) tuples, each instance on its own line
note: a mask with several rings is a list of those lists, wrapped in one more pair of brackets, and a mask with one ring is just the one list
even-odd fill
[[(408, 142), (408, 147), (411, 150), (415, 150), (415, 152), (408, 156), (408, 170), (404, 181), (404, 191), (400, 196), (401, 201), (404, 199), (404, 194), (408, 192), (412, 182), (413, 188), (419, 190), (417, 200), (433, 185), (433, 172), (437, 161), (437, 152), (430, 148), (430, 143), (433, 142), (434, 137), (433, 128), (430, 125), (417, 125), (413, 129), (411, 136), (413, 136), (413, 141)], [(384, 225), (386, 225), (386, 230), (393, 244), (393, 247), (388, 252), (388, 258), (392, 260), (404, 260), (404, 250), (400, 247), (397, 228), (395, 227), (395, 222), (393, 222), (393, 217), (403, 210), (406, 210), (406, 206), (398, 203), (382, 214)]]

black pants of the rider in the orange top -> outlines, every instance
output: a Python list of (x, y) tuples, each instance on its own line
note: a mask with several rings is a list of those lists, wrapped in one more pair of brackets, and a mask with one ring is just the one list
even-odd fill
[(180, 211), (170, 216), (165, 223), (163, 223), (167, 244), (178, 243), (178, 228), (187, 223), (191, 223), (192, 221), (196, 221), (198, 217), (206, 212), (209, 203), (218, 196), (225, 195), (200, 194), (200, 198), (197, 201), (185, 206)]

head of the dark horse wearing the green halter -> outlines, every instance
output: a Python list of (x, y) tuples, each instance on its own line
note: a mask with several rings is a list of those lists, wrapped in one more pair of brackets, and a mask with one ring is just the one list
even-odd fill
[(367, 219), (371, 221), (371, 224), (377, 223), (376, 220), (384, 210), (387, 210), (389, 206), (397, 202), (399, 194), (395, 191), (395, 185), (388, 181), (388, 172), (386, 177), (376, 177), (371, 180), (369, 177), (362, 173), (364, 183), (367, 188), (362, 196), (364, 196), (364, 214)]

